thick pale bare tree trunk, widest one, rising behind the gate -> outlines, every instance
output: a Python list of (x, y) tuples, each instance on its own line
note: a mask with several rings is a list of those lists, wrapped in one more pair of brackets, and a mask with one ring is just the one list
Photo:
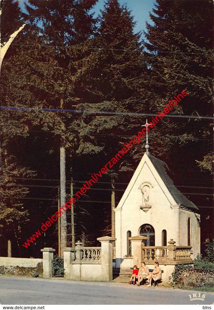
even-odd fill
[[(66, 177), (65, 177), (65, 147), (60, 147), (60, 204), (61, 207), (66, 203)], [(65, 209), (65, 208), (64, 208)], [(65, 209), (66, 210), (66, 209)], [(67, 217), (66, 211), (61, 215), (61, 255), (67, 246)]]

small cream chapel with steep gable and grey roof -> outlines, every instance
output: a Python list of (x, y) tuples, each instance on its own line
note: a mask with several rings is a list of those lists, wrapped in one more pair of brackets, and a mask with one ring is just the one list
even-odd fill
[[(133, 258), (133, 241), (140, 236), (147, 237), (141, 241), (151, 252), (156, 247), (164, 250), (171, 240), (171, 245), (176, 246), (175, 260), (184, 263), (188, 250), (191, 259), (200, 253), (199, 209), (175, 187), (167, 175), (167, 164), (150, 154), (148, 138), (146, 152), (114, 211), (116, 268), (120, 270), (128, 270), (139, 262)], [(166, 263), (167, 255), (162, 260)]]

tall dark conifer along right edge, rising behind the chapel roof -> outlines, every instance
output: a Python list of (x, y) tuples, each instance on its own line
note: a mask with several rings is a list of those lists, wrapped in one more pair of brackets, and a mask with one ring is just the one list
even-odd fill
[[(211, 116), (213, 2), (156, 0), (150, 17), (153, 23), (147, 24), (144, 45), (151, 68), (149, 81), (154, 95), (151, 101), (153, 107), (156, 109), (158, 105), (164, 105), (161, 98), (167, 100), (186, 90), (188, 96), (173, 112), (196, 117)], [(180, 118), (162, 121), (163, 124), (166, 127), (162, 134), (170, 147), (167, 158), (171, 170), (176, 173), (175, 182), (202, 186), (197, 190), (204, 194), (204, 187), (212, 184), (210, 168), (213, 139), (210, 120)], [(199, 168), (204, 171), (203, 174)], [(197, 191), (194, 189), (192, 192)], [(198, 206), (212, 204), (206, 196), (190, 196)], [(209, 228), (204, 222), (207, 223), (206, 217), (211, 222), (212, 214), (209, 208), (202, 211), (202, 239), (205, 239)]]

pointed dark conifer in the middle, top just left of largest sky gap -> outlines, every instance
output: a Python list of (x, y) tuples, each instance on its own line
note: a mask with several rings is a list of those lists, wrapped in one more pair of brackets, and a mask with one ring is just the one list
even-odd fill
[[(148, 70), (140, 33), (134, 33), (135, 22), (127, 8), (121, 7), (117, 0), (109, 0), (101, 13), (98, 34), (85, 47), (91, 53), (84, 62), (77, 63), (74, 91), (81, 102), (79, 109), (117, 111), (121, 115), (87, 113), (75, 127), (76, 132), (82, 132), (79, 153), (110, 157), (122, 141), (126, 142), (127, 135), (134, 135), (141, 126), (139, 119), (130, 119), (122, 112), (146, 110), (148, 93), (144, 76)], [(103, 138), (103, 134), (109, 137)], [(127, 168), (127, 162), (121, 162), (122, 166)]]

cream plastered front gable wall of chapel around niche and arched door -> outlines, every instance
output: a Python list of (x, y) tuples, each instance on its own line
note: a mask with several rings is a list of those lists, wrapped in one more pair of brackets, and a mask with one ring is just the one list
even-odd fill
[(149, 204), (151, 209), (147, 212), (141, 210), (141, 203), (139, 202), (142, 201), (142, 194), (138, 189), (141, 183), (142, 181), (136, 181), (122, 207), (122, 257), (127, 253), (127, 231), (131, 231), (131, 236), (137, 236), (140, 233), (140, 227), (145, 223), (150, 224), (154, 228), (156, 246), (162, 245), (163, 230), (167, 231), (167, 241), (174, 239), (176, 242), (179, 242), (178, 210), (171, 209), (170, 202), (158, 184), (150, 190), (151, 199)]

